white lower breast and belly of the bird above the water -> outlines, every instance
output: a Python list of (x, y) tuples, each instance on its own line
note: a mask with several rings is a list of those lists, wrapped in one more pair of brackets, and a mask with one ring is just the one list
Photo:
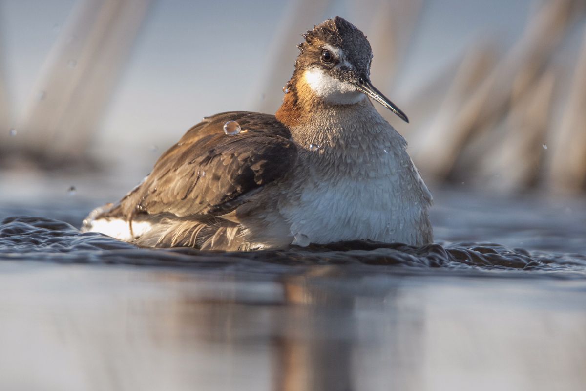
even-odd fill
[[(311, 243), (370, 239), (421, 244), (429, 223), (423, 189), (399, 176), (308, 181), (299, 202), (282, 203), (291, 233)], [(423, 182), (422, 182), (423, 183)]]

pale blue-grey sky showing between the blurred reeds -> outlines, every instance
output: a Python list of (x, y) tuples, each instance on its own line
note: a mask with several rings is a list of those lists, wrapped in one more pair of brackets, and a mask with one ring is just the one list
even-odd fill
[[(391, 98), (410, 98), (479, 36), (496, 36), (506, 49), (537, 3), (426, 1)], [(2, 60), (13, 113), (38, 93), (33, 89), (39, 70), (74, 5), (74, 0), (0, 0)], [(306, 26), (336, 14), (347, 17), (348, 8), (348, 1), (337, 1), (331, 13), (315, 15)], [(272, 54), (267, 48), (287, 14), (285, 1), (155, 2), (97, 138), (171, 144), (205, 115), (253, 110), (258, 97), (251, 94), (258, 93), (263, 64)], [(358, 27), (369, 35), (369, 26)]]

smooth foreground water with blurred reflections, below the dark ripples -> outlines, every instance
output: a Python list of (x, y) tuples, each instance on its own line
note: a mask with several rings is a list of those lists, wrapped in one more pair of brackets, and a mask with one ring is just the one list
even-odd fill
[[(581, 389), (582, 281), (0, 263), (2, 389)], [(30, 375), (33, 373), (34, 375)]]

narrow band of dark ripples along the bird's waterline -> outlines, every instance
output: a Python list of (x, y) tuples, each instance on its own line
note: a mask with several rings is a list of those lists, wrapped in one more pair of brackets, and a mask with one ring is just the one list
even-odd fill
[(509, 248), (493, 243), (413, 247), (357, 240), (289, 250), (232, 253), (147, 249), (98, 233), (80, 233), (59, 220), (25, 216), (7, 217), (2, 221), (0, 259), (227, 269), (263, 274), (298, 273), (312, 266), (329, 265), (338, 266), (345, 274), (405, 271), (479, 274), (500, 271), (499, 276), (507, 272), (517, 277), (586, 277), (584, 255)]

